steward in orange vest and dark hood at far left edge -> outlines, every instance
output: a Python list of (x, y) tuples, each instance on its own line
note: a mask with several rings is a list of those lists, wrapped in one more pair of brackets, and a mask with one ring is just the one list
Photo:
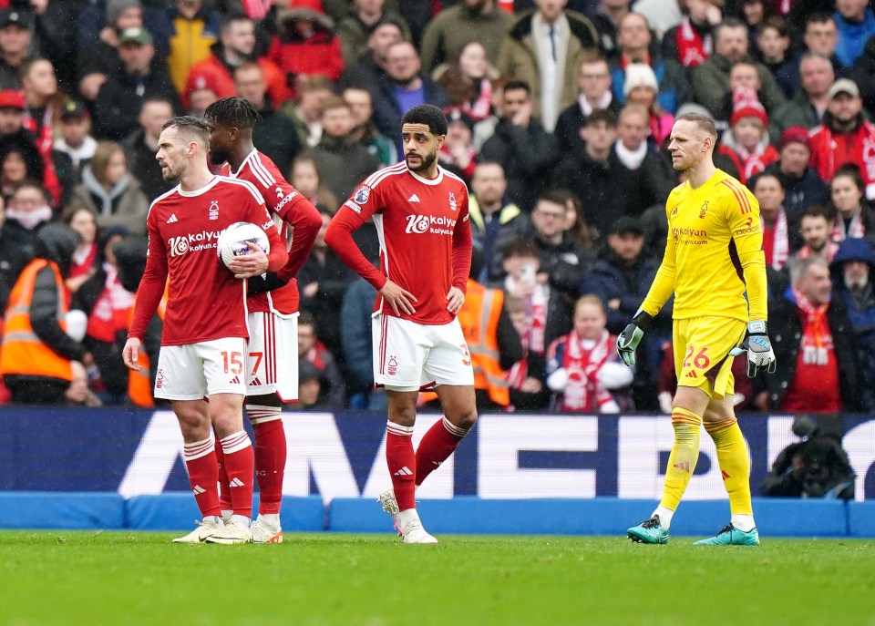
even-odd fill
[(76, 231), (47, 224), (36, 236), (36, 259), (15, 282), (5, 312), (0, 375), (15, 403), (60, 404), (73, 380), (72, 361), (94, 363), (67, 334), (64, 284), (79, 242)]

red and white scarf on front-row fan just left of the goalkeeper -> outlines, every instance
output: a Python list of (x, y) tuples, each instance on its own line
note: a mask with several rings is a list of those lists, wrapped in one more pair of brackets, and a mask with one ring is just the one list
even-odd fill
[(599, 370), (611, 354), (611, 334), (607, 331), (602, 331), (589, 350), (583, 347), (577, 331), (565, 337), (562, 368), (568, 372), (568, 383), (562, 395), (563, 411), (599, 413), (603, 405), (612, 402), (611, 392), (599, 383)]

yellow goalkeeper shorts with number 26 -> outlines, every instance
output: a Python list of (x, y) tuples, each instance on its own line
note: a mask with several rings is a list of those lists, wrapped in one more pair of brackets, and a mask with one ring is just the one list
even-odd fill
[(674, 320), (677, 385), (699, 387), (714, 400), (735, 393), (729, 351), (745, 338), (747, 324), (730, 317)]

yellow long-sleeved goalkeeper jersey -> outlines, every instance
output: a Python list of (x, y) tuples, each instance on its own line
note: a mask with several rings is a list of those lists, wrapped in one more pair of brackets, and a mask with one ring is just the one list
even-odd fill
[(674, 292), (676, 320), (766, 321), (766, 261), (754, 195), (717, 169), (698, 189), (689, 181), (674, 188), (665, 212), (665, 256), (643, 310), (655, 315)]

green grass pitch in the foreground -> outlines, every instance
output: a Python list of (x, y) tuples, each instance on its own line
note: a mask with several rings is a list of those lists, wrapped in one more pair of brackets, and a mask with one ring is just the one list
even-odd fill
[(875, 541), (0, 532), (0, 624), (875, 625)]

